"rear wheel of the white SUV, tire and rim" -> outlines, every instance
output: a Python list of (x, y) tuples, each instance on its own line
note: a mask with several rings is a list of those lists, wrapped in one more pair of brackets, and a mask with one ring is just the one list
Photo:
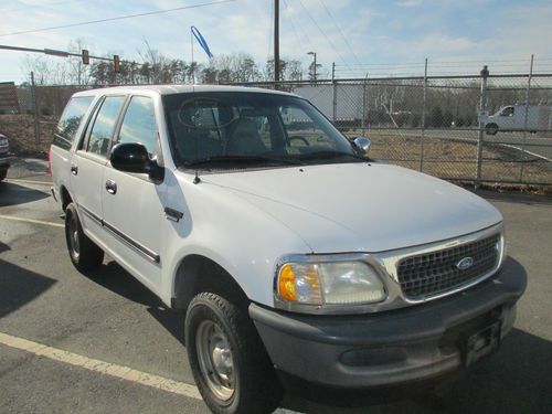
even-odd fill
[(104, 251), (84, 234), (73, 203), (65, 209), (65, 240), (71, 262), (78, 272), (93, 270), (104, 262)]

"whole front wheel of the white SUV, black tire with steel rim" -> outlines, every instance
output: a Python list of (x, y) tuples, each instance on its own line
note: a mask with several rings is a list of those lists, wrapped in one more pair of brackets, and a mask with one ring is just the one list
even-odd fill
[(185, 347), (213, 413), (272, 413), (278, 406), (282, 388), (246, 309), (215, 294), (199, 294), (188, 307)]

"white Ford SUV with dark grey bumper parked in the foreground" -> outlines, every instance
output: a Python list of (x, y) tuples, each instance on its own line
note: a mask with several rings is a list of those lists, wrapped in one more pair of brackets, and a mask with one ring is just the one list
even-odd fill
[(500, 213), (368, 147), (291, 94), (87, 91), (51, 147), (53, 193), (77, 269), (106, 252), (185, 309), (209, 407), (263, 413), (297, 380), (434, 379), (512, 327), (527, 277), (505, 265)]

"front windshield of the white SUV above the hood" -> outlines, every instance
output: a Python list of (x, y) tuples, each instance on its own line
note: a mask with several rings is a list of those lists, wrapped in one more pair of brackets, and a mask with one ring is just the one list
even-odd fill
[(312, 105), (254, 92), (163, 97), (178, 166), (232, 169), (363, 161)]

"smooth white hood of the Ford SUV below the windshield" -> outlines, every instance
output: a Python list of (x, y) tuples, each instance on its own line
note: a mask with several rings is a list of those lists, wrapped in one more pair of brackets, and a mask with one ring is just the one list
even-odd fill
[(390, 251), (502, 221), (497, 209), (459, 187), (376, 162), (231, 172), (202, 180), (263, 210), (314, 253)]

